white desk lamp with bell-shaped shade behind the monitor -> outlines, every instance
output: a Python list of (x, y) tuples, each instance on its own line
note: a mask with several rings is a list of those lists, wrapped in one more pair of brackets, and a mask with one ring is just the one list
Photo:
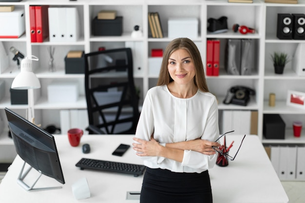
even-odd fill
[(40, 82), (37, 76), (32, 72), (32, 60), (38, 61), (35, 55), (26, 56), (21, 60), (20, 73), (15, 77), (12, 83), (12, 89), (28, 90), (28, 113), (27, 119), (35, 123), (34, 114), (34, 90), (40, 88)]

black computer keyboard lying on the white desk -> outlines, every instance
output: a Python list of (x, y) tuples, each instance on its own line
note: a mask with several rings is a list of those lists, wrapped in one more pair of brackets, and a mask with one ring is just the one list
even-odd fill
[(143, 165), (126, 164), (126, 163), (94, 160), (87, 158), (82, 158), (75, 166), (80, 167), (81, 170), (87, 168), (87, 169), (95, 169), (101, 171), (128, 173), (128, 174), (133, 174), (133, 176), (135, 177), (139, 175), (143, 175), (146, 168), (146, 166)]

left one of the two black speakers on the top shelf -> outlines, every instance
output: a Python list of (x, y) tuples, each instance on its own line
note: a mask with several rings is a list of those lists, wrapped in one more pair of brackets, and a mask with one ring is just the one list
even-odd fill
[(291, 14), (277, 15), (276, 37), (279, 39), (292, 39), (293, 16)]

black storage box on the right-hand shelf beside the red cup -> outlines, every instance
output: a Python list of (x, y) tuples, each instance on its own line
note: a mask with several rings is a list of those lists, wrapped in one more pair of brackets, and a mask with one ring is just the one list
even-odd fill
[(285, 139), (285, 127), (279, 114), (264, 114), (263, 133), (266, 139)]

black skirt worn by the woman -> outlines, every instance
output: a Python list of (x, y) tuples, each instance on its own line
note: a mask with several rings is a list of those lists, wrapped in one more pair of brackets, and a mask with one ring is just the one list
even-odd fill
[(212, 203), (208, 170), (202, 173), (176, 173), (146, 168), (140, 203)]

